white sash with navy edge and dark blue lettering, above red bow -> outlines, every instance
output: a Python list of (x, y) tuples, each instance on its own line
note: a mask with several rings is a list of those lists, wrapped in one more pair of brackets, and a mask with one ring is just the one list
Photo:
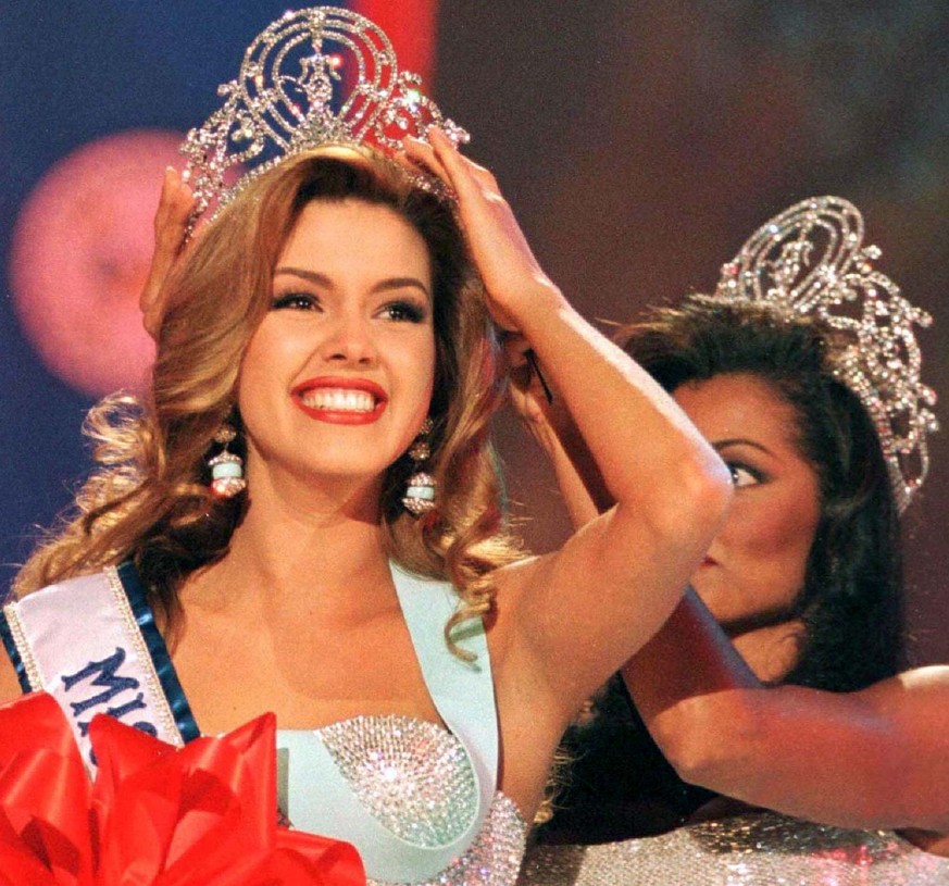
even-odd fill
[(71, 578), (3, 607), (0, 635), (24, 691), (63, 709), (87, 765), (97, 713), (171, 745), (198, 736), (134, 566)]

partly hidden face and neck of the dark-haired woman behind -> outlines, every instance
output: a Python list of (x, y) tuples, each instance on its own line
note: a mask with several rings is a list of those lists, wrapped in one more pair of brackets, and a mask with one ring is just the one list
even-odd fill
[(761, 379), (720, 375), (675, 401), (732, 472), (735, 501), (691, 586), (762, 681), (797, 658), (788, 616), (820, 520), (817, 476), (797, 445), (795, 412)]

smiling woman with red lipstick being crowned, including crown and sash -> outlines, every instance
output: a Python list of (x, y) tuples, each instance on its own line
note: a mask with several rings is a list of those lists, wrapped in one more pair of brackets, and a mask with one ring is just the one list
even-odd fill
[[(90, 768), (97, 712), (183, 744), (272, 711), (295, 826), (372, 883), (510, 886), (573, 711), (672, 611), (732, 490), (392, 67), (371, 22), (287, 13), (189, 134), (210, 220), (176, 260), (166, 176), (153, 383), (91, 414), (100, 470), (17, 577), (0, 699), (54, 695)], [(505, 526), (499, 329), (553, 366), (617, 500), (545, 557)]]

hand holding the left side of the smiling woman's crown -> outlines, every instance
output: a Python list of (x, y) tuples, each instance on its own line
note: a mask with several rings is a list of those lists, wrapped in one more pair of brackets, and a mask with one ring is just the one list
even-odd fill
[(139, 296), (142, 325), (152, 337), (158, 337), (164, 314), (162, 289), (165, 278), (177, 258), (185, 249), (188, 220), (195, 207), (191, 189), (172, 166), (165, 170), (162, 194), (154, 215), (154, 252), (148, 270), (145, 287)]

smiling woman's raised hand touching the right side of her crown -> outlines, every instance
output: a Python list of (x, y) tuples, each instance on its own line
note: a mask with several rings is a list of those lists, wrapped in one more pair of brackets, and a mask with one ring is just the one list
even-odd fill
[(536, 304), (538, 298), (560, 300), (560, 291), (537, 263), (495, 176), (463, 157), (440, 129), (429, 129), (428, 138), (405, 139), (405, 153), (458, 196), (459, 216), (491, 317), (502, 329), (519, 330), (523, 307)]

